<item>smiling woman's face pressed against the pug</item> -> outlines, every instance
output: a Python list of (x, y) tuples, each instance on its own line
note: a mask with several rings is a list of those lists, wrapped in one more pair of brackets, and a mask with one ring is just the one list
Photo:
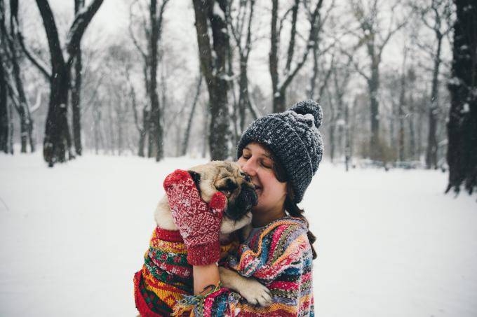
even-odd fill
[(242, 156), (237, 161), (257, 189), (258, 204), (253, 211), (283, 211), (286, 197), (286, 183), (276, 179), (273, 170), (273, 161), (268, 150), (258, 143), (248, 143), (243, 148)]

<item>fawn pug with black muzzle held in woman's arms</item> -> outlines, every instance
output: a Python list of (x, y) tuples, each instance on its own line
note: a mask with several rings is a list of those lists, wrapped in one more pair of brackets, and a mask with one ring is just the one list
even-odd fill
[[(242, 237), (247, 237), (252, 221), (250, 210), (257, 204), (255, 185), (250, 176), (244, 173), (238, 164), (226, 161), (209, 162), (187, 171), (194, 179), (204, 202), (210, 202), (217, 191), (227, 197), (227, 206), (220, 225), (220, 240), (227, 241), (229, 234), (236, 230), (242, 230)], [(167, 195), (159, 202), (154, 218), (162, 229), (177, 230), (170, 213)], [(271, 304), (271, 293), (262, 283), (224, 267), (219, 267), (219, 272), (222, 285), (239, 293), (250, 304), (260, 306)]]

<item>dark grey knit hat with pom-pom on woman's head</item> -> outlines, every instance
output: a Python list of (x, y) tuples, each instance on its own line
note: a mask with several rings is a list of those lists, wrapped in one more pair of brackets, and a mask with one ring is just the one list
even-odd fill
[(300, 101), (288, 111), (259, 118), (238, 141), (237, 158), (250, 142), (267, 146), (285, 169), (295, 203), (301, 202), (323, 156), (323, 140), (318, 132), (322, 120), (321, 106), (313, 100)]

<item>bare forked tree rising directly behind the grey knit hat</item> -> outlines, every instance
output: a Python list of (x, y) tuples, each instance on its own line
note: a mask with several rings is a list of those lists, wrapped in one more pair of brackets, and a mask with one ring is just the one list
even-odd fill
[[(311, 48), (313, 48), (314, 41), (317, 39), (317, 32), (318, 32), (318, 15), (321, 9), (321, 5), (323, 4), (323, 0), (318, 0), (314, 10), (312, 10), (311, 17), (309, 19), (310, 22), (310, 31), (309, 36), (307, 38), (307, 43), (305, 45), (304, 51), (302, 52), (301, 58), (295, 64), (292, 69), (292, 62), (293, 56), (295, 55), (295, 46), (296, 46), (296, 38), (297, 38), (297, 17), (298, 17), (298, 9), (300, 7), (300, 0), (294, 0), (293, 6), (289, 10), (286, 11), (285, 15), (278, 20), (278, 0), (272, 0), (272, 8), (271, 8), (271, 48), (270, 48), (270, 55), (269, 55), (269, 70), (271, 76), (271, 86), (272, 91), (274, 94), (273, 99), (273, 110), (274, 112), (282, 112), (285, 111), (285, 95), (288, 86), (290, 85), (293, 78), (296, 76), (298, 71), (302, 68), (304, 63), (307, 61), (307, 57)], [(283, 27), (283, 23), (285, 22), (287, 15), (291, 13), (292, 20), (291, 20), (291, 27), (290, 27), (290, 43), (288, 44), (285, 68), (283, 69), (283, 78), (280, 78), (280, 69), (279, 69), (279, 52), (280, 52), (280, 36)]]

